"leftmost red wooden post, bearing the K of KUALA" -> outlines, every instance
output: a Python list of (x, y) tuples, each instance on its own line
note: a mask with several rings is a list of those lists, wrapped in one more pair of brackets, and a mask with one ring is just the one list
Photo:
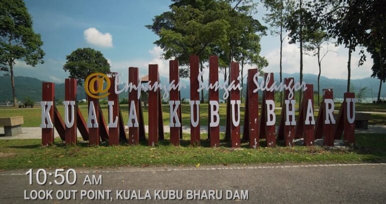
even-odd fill
[[(51, 82), (43, 82), (42, 85), (42, 111), (48, 110), (48, 105), (52, 104), (50, 110), (48, 110), (48, 115), (51, 119), (51, 121), (47, 121), (48, 119), (44, 119), (44, 125), (45, 127), (42, 127), (42, 145), (48, 146), (52, 145), (54, 143), (54, 127), (46, 127), (47, 124), (55, 124), (54, 121), (54, 107), (55, 107), (55, 84)], [(44, 103), (44, 104), (43, 104)], [(43, 119), (42, 119), (43, 120)]]

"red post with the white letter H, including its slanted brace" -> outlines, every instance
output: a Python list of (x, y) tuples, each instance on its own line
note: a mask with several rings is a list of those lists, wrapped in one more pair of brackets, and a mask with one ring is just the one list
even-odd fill
[[(290, 81), (291, 84), (290, 84)], [(284, 78), (287, 87), (294, 88), (294, 78)], [(295, 141), (295, 97), (289, 99), (289, 90), (284, 91), (281, 118), (277, 129), (277, 140), (284, 140), (284, 146), (293, 147)]]

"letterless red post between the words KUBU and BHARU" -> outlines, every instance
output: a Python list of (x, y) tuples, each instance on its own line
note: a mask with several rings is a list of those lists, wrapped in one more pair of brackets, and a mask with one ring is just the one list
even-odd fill
[(253, 93), (253, 90), (257, 88), (256, 84), (253, 82), (253, 77), (257, 71), (257, 69), (248, 69), (243, 129), (243, 140), (249, 140), (249, 147), (253, 149), (256, 149), (260, 145), (259, 97), (257, 92)]

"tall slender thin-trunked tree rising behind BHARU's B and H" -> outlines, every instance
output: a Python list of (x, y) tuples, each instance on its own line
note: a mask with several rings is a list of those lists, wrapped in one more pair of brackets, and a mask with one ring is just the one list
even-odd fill
[[(273, 36), (278, 36), (280, 40), (280, 82), (282, 82), (282, 47), (286, 35), (283, 36), (285, 20), (289, 14), (294, 11), (295, 1), (293, 0), (263, 0), (264, 7), (270, 13), (263, 18), (264, 22), (270, 26), (270, 32)], [(280, 106), (282, 103), (282, 92), (280, 92)]]

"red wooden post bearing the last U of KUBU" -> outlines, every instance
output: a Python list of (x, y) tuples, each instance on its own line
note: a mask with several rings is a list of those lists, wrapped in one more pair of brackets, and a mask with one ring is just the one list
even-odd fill
[[(237, 80), (237, 77), (239, 76), (239, 63), (238, 62), (231, 62), (231, 82), (235, 81), (235, 86), (237, 86), (240, 82)], [(240, 90), (239, 89), (232, 89), (230, 93), (230, 99), (231, 100), (240, 100)], [(230, 106), (232, 109), (232, 106)], [(233, 110), (230, 112), (230, 121), (231, 121), (231, 146), (232, 147), (240, 147), (240, 124), (238, 126), (235, 126), (232, 122), (232, 111), (235, 113), (235, 120), (240, 117), (240, 110), (237, 108), (237, 104), (234, 105)], [(241, 120), (241, 118), (240, 118)]]

